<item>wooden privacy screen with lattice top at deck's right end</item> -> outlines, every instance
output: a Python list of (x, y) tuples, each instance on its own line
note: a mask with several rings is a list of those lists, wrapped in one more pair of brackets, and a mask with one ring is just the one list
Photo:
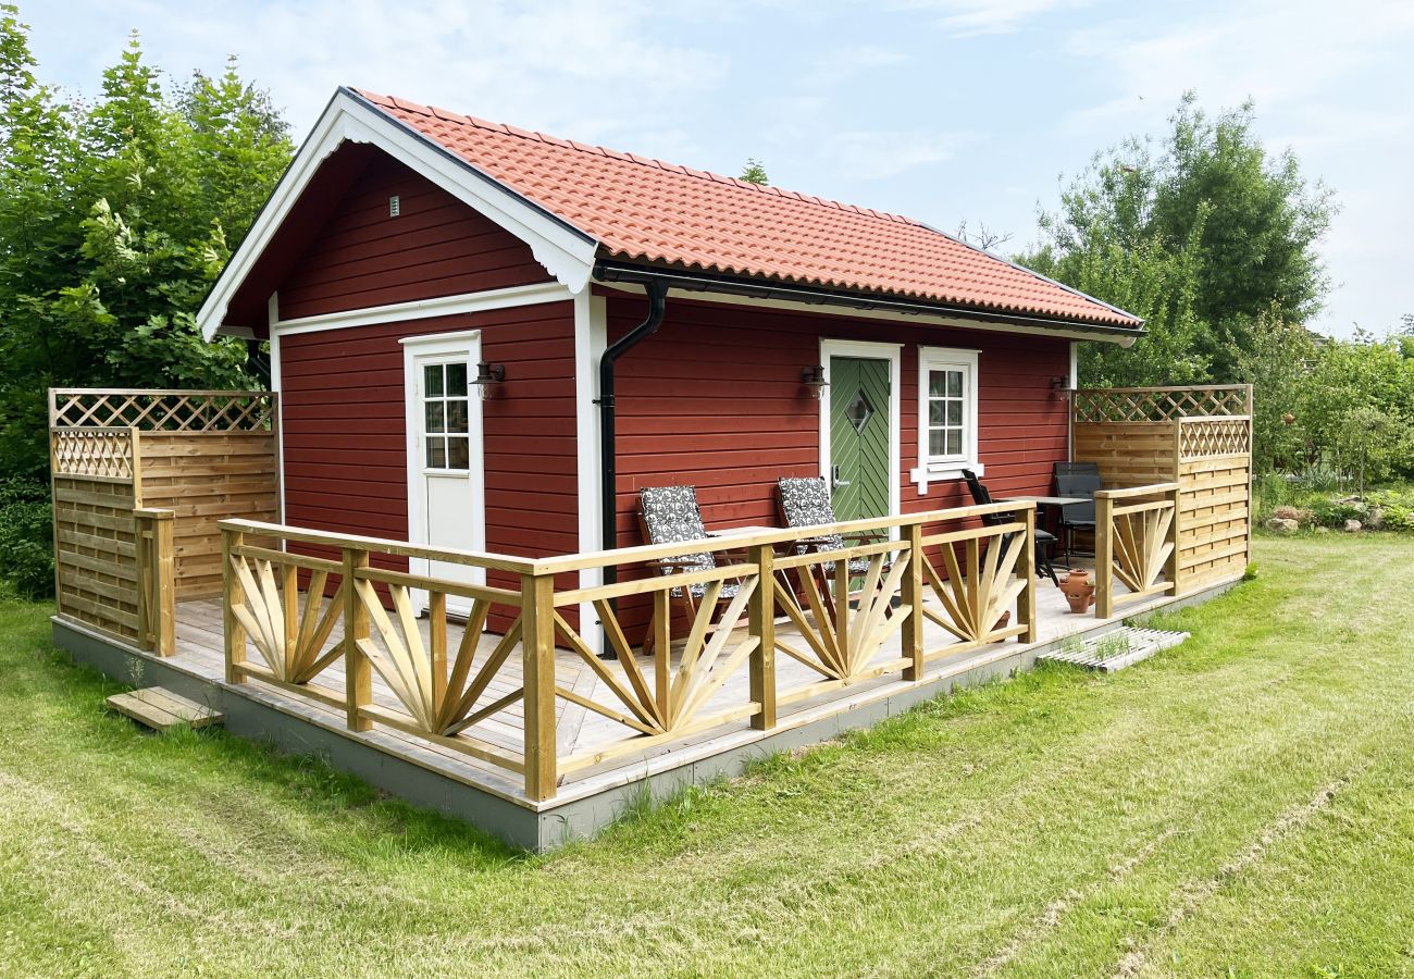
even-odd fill
[(1106, 488), (1179, 484), (1179, 591), (1243, 573), (1251, 538), (1250, 386), (1080, 390), (1072, 410), (1072, 458), (1096, 463)]

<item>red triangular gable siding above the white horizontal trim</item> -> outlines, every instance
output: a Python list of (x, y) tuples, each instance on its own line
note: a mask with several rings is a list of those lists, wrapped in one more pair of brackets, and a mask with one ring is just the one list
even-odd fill
[[(342, 150), (341, 150), (342, 153)], [(402, 214), (389, 216), (397, 195)], [(530, 246), (382, 153), (279, 284), (294, 318), (549, 282)]]

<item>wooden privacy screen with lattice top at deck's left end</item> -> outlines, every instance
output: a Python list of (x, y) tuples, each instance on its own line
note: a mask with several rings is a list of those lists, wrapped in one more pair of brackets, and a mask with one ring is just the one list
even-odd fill
[(175, 597), (221, 594), (216, 521), (279, 518), (277, 417), (269, 392), (51, 390), (59, 614), (144, 639), (144, 508), (174, 514)]

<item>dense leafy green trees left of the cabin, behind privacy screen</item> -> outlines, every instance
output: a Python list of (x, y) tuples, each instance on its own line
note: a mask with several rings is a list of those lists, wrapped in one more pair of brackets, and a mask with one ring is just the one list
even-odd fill
[(293, 146), (235, 61), (168, 95), (136, 34), (93, 105), (64, 102), (0, 14), (0, 463), (38, 474), (45, 388), (256, 382), (195, 313)]

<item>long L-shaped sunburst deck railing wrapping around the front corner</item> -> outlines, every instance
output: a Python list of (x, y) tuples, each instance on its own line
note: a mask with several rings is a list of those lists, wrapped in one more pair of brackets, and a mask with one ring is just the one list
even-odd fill
[[(1015, 516), (974, 525), (995, 514)], [(352, 730), (385, 724), (519, 772), (527, 796), (547, 799), (561, 777), (659, 741), (741, 720), (772, 730), (781, 705), (889, 673), (921, 680), (930, 659), (1007, 638), (1035, 641), (1034, 528), (1031, 504), (991, 504), (527, 560), (223, 521), (226, 675), (342, 710)], [(830, 533), (877, 539), (827, 552), (800, 545)], [(701, 553), (715, 567), (645, 574), (648, 562)], [(373, 567), (379, 555), (479, 569), (512, 584)], [(567, 584), (605, 569), (618, 580)], [(696, 614), (674, 624), (682, 589), (701, 597)], [(426, 620), (414, 613), (414, 591), (426, 597)], [(928, 594), (936, 607), (925, 606)], [(464, 603), (455, 642), (448, 598)], [(650, 655), (629, 639), (625, 608), (633, 603), (656, 613)], [(1007, 624), (1012, 603), (1018, 621)], [(795, 632), (783, 635), (778, 620)], [(499, 635), (484, 644), (492, 621)], [(925, 622), (956, 641), (929, 647)], [(617, 659), (595, 655), (585, 638), (594, 627)], [(592, 690), (556, 676), (557, 645), (592, 673)], [(516, 652), (520, 669), (503, 669)], [(813, 678), (778, 680), (778, 652)], [(342, 685), (325, 679), (338, 668)], [(744, 688), (728, 686), (742, 672)], [(373, 700), (375, 673), (390, 702)], [(622, 738), (567, 746), (561, 757), (557, 700), (614, 722)], [(488, 726), (515, 723), (518, 710), (522, 738), (512, 746)]]

